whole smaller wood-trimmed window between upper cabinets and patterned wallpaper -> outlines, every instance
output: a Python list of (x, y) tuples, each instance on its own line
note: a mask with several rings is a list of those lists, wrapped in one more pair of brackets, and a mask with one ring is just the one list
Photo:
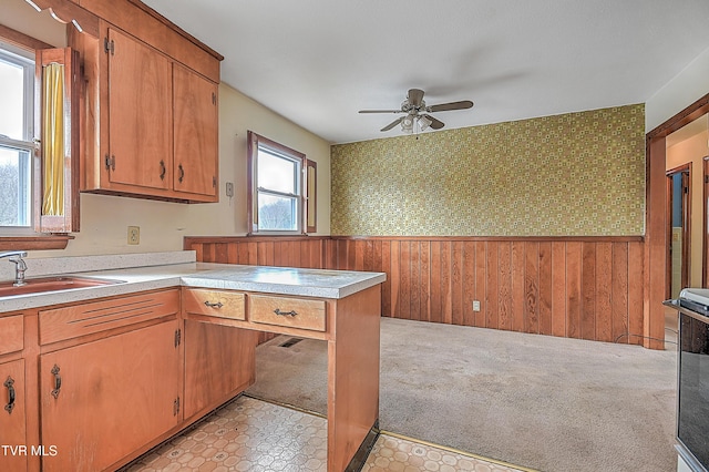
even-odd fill
[(249, 131), (248, 165), (250, 233), (302, 234), (305, 154)]

